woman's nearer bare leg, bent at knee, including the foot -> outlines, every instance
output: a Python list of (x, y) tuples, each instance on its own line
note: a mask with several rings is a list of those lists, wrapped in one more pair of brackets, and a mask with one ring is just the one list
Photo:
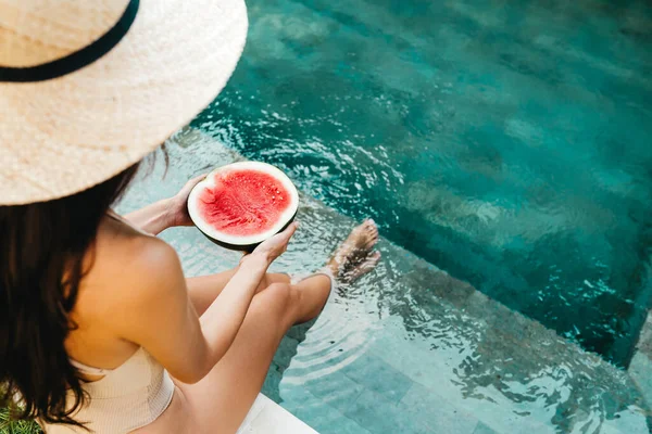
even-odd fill
[[(373, 221), (356, 227), (328, 266), (335, 276), (368, 271), (379, 255), (371, 251), (378, 238)], [(272, 283), (258, 293), (234, 344), (197, 384), (177, 383), (190, 419), (190, 432), (234, 434), (258, 396), (272, 358), (288, 329), (319, 314), (330, 292), (330, 278), (315, 275), (297, 284)]]

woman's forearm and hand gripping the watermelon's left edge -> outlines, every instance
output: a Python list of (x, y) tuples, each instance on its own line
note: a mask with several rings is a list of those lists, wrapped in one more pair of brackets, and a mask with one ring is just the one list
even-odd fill
[(186, 202), (192, 188), (205, 177), (200, 175), (192, 178), (173, 197), (155, 202), (124, 217), (136, 228), (154, 235), (175, 226), (192, 226)]

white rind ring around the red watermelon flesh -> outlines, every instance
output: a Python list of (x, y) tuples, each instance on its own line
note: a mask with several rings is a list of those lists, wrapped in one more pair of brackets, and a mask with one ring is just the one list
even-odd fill
[[(276, 225), (274, 225), (269, 230), (250, 237), (234, 237), (228, 233), (218, 231), (201, 218), (201, 214), (199, 210), (200, 192), (204, 188), (215, 186), (214, 175), (230, 170), (256, 170), (269, 174), (278, 181), (280, 181), (287, 190), (287, 192), (290, 194), (290, 206), (288, 206), (288, 208), (281, 214)], [(244, 246), (250, 244), (258, 244), (267, 240), (268, 238), (278, 233), (278, 231), (280, 231), (283, 227), (286, 226), (288, 221), (290, 221), (292, 216), (294, 216), (294, 214), (297, 213), (297, 209), (299, 209), (299, 193), (297, 192), (297, 188), (294, 187), (290, 178), (288, 178), (288, 176), (280, 171), (277, 167), (274, 167), (267, 163), (260, 162), (239, 162), (218, 167), (215, 170), (211, 171), (203, 181), (195, 186), (195, 188), (190, 192), (190, 195), (188, 196), (188, 213), (190, 214), (190, 218), (192, 219), (195, 226), (197, 226), (199, 230), (201, 230), (210, 238), (226, 244), (234, 245)]]

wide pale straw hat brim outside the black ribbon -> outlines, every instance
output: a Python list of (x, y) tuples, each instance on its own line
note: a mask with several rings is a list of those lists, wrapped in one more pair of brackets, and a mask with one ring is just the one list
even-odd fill
[(141, 0), (102, 59), (0, 84), (0, 204), (71, 195), (139, 162), (224, 88), (247, 27), (242, 0)]

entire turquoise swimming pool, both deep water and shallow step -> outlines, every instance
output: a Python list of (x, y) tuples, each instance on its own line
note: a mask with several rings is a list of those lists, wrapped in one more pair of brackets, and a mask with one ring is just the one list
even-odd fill
[[(650, 8), (249, 8), (227, 89), (122, 209), (244, 155), (305, 193), (277, 269), (381, 224), (377, 270), (290, 331), (263, 392), (322, 434), (648, 433), (616, 366), (652, 290)], [(238, 263), (192, 228), (163, 237), (188, 275)]]

